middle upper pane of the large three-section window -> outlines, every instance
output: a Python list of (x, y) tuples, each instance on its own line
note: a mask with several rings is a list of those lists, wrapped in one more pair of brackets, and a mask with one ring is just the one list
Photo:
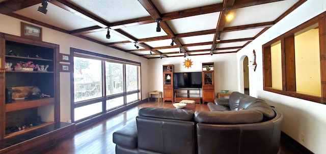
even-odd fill
[(105, 62), (106, 96), (123, 93), (123, 65)]

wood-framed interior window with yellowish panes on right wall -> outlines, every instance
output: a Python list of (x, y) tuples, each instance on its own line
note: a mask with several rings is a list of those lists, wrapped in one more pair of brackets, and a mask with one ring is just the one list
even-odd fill
[(325, 14), (263, 45), (264, 90), (326, 103)]

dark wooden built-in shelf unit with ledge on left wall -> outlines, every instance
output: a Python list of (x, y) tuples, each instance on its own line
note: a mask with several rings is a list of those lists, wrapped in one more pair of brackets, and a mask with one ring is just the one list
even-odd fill
[(75, 130), (60, 122), (59, 45), (0, 33), (0, 58), (0, 153), (36, 150)]

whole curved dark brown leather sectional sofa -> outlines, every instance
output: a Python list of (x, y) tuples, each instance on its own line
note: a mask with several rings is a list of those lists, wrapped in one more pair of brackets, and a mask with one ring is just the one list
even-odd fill
[(146, 107), (113, 133), (116, 153), (280, 153), (283, 115), (233, 92), (210, 111)]

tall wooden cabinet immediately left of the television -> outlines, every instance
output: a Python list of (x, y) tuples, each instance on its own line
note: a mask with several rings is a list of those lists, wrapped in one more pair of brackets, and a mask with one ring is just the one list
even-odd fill
[(173, 102), (174, 65), (163, 65), (163, 102)]

